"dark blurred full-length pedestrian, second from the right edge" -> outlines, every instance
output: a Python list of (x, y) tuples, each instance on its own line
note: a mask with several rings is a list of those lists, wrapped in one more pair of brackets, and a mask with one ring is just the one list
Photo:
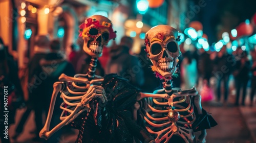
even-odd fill
[(249, 81), (249, 72), (250, 72), (250, 61), (247, 58), (247, 52), (241, 51), (240, 57), (241, 59), (236, 63), (236, 69), (233, 72), (233, 76), (236, 82), (236, 103), (235, 105), (239, 105), (239, 98), (240, 98), (240, 89), (243, 87), (243, 94), (242, 94), (242, 105), (245, 105), (245, 96), (246, 96), (246, 89), (247, 83)]

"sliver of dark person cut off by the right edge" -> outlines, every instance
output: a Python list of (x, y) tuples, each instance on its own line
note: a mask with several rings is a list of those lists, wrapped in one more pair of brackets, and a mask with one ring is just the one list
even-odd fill
[(251, 92), (250, 92), (250, 106), (253, 105), (253, 98), (256, 90), (256, 51), (251, 51), (252, 66), (251, 66)]

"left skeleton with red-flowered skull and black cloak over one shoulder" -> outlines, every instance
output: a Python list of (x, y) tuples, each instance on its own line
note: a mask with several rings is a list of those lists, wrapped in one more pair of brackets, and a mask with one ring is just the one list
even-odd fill
[[(45, 126), (39, 133), (48, 139), (65, 125), (79, 130), (77, 142), (132, 142), (134, 136), (145, 142), (154, 140), (132, 120), (128, 110), (136, 103), (139, 90), (117, 75), (104, 78), (95, 75), (97, 58), (102, 55), (103, 46), (116, 37), (112, 22), (100, 15), (86, 19), (80, 25), (83, 50), (92, 56), (88, 74), (68, 77), (62, 74), (54, 83), (51, 104)], [(50, 130), (50, 124), (58, 93), (61, 122)], [(108, 104), (106, 104), (108, 102)], [(131, 132), (133, 130), (133, 132)]]

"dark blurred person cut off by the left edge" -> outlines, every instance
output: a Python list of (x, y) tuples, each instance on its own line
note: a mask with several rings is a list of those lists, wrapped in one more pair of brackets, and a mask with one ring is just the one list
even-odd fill
[[(0, 37), (0, 111), (4, 113), (8, 107), (8, 116), (5, 114), (0, 117), (0, 128), (3, 130), (8, 130), (11, 124), (15, 122), (16, 109), (19, 108), (23, 101), (23, 90), (20, 85), (18, 78), (18, 67), (13, 60), (13, 58), (8, 53), (8, 47), (5, 46), (2, 38)], [(7, 91), (7, 92), (4, 92)], [(8, 93), (8, 94), (6, 94)], [(8, 101), (8, 102), (7, 102)], [(6, 129), (6, 121), (8, 118), (8, 128)], [(6, 123), (6, 122), (5, 122)], [(10, 142), (9, 133), (5, 134), (3, 131), (1, 135), (2, 142)], [(0, 141), (0, 142), (1, 142)]]

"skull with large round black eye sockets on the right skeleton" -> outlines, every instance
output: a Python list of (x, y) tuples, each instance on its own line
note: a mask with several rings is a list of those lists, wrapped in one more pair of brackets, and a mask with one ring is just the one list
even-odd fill
[(175, 28), (166, 25), (153, 27), (146, 33), (146, 52), (153, 63), (152, 69), (164, 78), (172, 77), (176, 71), (181, 55), (179, 37)]

